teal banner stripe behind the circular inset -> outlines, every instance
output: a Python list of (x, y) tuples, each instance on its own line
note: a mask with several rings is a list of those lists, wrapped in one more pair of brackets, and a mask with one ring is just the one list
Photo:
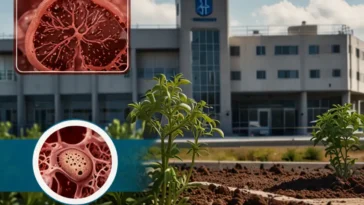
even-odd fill
[[(37, 140), (0, 140), (0, 192), (41, 192), (32, 167)], [(111, 192), (139, 192), (148, 179), (142, 165), (153, 140), (115, 140), (118, 171)]]

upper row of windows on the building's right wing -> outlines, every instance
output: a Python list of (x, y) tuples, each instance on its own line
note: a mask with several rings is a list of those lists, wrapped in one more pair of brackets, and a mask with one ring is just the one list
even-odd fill
[[(318, 55), (320, 54), (320, 46), (319, 45), (309, 45), (308, 53), (310, 55)], [(332, 45), (331, 53), (340, 53), (340, 45)], [(274, 47), (275, 55), (298, 55), (299, 48), (296, 45), (292, 46), (275, 46)], [(240, 46), (230, 46), (230, 55), (231, 56), (240, 56)], [(264, 56), (266, 55), (265, 46), (256, 46), (256, 55)], [(359, 57), (360, 50), (357, 49), (357, 56)]]

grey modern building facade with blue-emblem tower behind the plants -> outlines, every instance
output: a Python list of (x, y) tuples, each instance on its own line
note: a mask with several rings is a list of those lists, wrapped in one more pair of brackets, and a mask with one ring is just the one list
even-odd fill
[(18, 75), (13, 40), (0, 40), (0, 121), (14, 130), (74, 118), (105, 126), (124, 120), (160, 73), (190, 79), (184, 92), (212, 105), (230, 136), (307, 134), (333, 104), (362, 112), (364, 42), (345, 26), (232, 29), (228, 3), (176, 0), (175, 28), (132, 29), (127, 75)]

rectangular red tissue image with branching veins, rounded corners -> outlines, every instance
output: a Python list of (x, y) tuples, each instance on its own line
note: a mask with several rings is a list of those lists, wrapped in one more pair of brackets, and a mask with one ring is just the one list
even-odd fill
[(17, 0), (18, 71), (125, 73), (129, 7), (129, 0)]

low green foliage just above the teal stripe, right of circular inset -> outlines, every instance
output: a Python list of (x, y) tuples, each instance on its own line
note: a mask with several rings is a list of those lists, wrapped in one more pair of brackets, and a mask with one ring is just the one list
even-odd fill
[(115, 139), (142, 139), (144, 134), (145, 122), (142, 128), (136, 129), (136, 123), (120, 123), (120, 120), (114, 119), (106, 127), (106, 132)]

